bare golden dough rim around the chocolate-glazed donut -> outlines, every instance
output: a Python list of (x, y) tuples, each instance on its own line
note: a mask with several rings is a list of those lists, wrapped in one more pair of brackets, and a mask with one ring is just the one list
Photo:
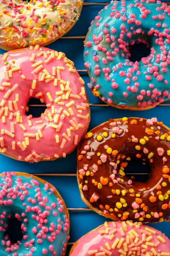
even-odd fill
[[(128, 117), (128, 118), (140, 118), (140, 117)], [(113, 119), (113, 118), (112, 118)], [(143, 118), (144, 120), (147, 120), (146, 118)], [(117, 121), (122, 121), (122, 118), (116, 118), (116, 119), (113, 119), (115, 122), (117, 122)], [(89, 131), (89, 132), (92, 132), (94, 129), (96, 129), (97, 127), (99, 127), (100, 125), (104, 125), (104, 124), (106, 124), (106, 123), (108, 123), (109, 122), (109, 120), (108, 121), (106, 121), (106, 122), (103, 122), (103, 123), (101, 123), (101, 124), (99, 124), (99, 125), (97, 125), (96, 127), (94, 127), (91, 131)], [(161, 126), (163, 126), (164, 128), (166, 128), (168, 131), (170, 131), (170, 128), (169, 127), (167, 127), (166, 125), (161, 125)], [(84, 138), (82, 138), (82, 140), (79, 142), (79, 145), (78, 145), (78, 147), (77, 147), (77, 157), (78, 157), (78, 153), (79, 153), (79, 148), (80, 148), (80, 145), (81, 145), (81, 143), (82, 143), (82, 141), (84, 140)], [(77, 162), (78, 163), (78, 162)], [(78, 172), (78, 164), (77, 164), (77, 183), (78, 183), (78, 188), (79, 188), (79, 184), (80, 184), (80, 182), (79, 182), (79, 172)], [(82, 190), (81, 189), (79, 189), (79, 192), (80, 192), (80, 196), (81, 196), (81, 199), (82, 199), (82, 201), (83, 201), (83, 203), (84, 204), (86, 204), (87, 205), (87, 207), (89, 208), (89, 209), (91, 209), (92, 211), (94, 211), (94, 212), (96, 212), (97, 214), (99, 214), (99, 215), (101, 215), (101, 216), (103, 216), (103, 217), (105, 217), (105, 218), (109, 218), (109, 219), (111, 219), (112, 221), (120, 221), (120, 219), (119, 218), (114, 218), (114, 217), (112, 217), (111, 215), (105, 215), (105, 214), (101, 214), (101, 213), (99, 213), (99, 210), (97, 209), (97, 208), (95, 208), (95, 207), (92, 207), (91, 206), (91, 204), (89, 203), (89, 201), (85, 198), (85, 196), (83, 195), (83, 192), (82, 192)], [(170, 218), (169, 218), (170, 219)], [(148, 222), (144, 222), (144, 221), (142, 221), (142, 223), (150, 223), (149, 221)], [(159, 221), (157, 221), (157, 222), (152, 222), (152, 223), (159, 223)]]

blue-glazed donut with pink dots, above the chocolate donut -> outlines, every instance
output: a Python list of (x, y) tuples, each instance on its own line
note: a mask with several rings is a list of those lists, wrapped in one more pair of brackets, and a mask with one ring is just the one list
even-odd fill
[[(170, 98), (169, 14), (170, 6), (155, 0), (112, 1), (99, 12), (84, 52), (94, 96), (130, 110), (153, 108)], [(150, 55), (130, 61), (130, 47), (139, 42), (150, 47)]]

